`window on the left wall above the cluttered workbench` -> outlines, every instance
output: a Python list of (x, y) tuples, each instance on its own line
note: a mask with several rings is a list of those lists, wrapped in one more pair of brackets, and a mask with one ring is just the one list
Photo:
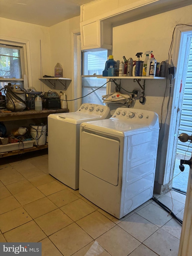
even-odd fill
[(22, 47), (0, 44), (0, 89), (9, 82), (23, 88), (23, 80)]

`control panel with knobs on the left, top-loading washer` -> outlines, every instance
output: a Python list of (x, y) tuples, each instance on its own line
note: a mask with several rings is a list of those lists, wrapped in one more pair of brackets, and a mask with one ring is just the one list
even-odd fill
[(94, 116), (106, 116), (110, 115), (110, 108), (105, 105), (83, 103), (81, 107), (76, 111), (76, 113), (83, 113)]

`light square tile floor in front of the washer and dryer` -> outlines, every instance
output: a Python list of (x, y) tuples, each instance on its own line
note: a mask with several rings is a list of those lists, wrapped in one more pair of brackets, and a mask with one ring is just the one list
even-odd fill
[[(185, 195), (171, 194), (183, 218)], [(172, 209), (171, 194), (156, 196)], [(42, 256), (177, 256), (180, 233), (152, 199), (120, 220), (98, 208), (48, 174), (46, 151), (0, 159), (0, 242), (42, 242)]]

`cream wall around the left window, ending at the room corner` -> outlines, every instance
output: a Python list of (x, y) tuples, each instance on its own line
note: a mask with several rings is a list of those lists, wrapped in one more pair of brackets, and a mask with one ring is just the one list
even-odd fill
[(41, 90), (40, 78), (40, 40), (42, 66), (45, 74), (50, 73), (50, 38), (49, 28), (30, 23), (0, 18), (0, 38), (16, 38), (28, 40), (31, 53), (32, 85), (37, 91)]

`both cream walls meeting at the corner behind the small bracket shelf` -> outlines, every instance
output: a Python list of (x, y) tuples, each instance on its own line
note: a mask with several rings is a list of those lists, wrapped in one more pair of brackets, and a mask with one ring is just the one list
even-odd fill
[[(54, 67), (60, 62), (63, 67), (63, 77), (72, 78), (67, 81), (67, 99), (73, 99), (73, 74), (72, 74), (72, 32), (80, 32), (80, 17), (74, 17), (58, 23), (50, 28), (30, 23), (0, 18), (0, 38), (16, 38), (28, 40), (30, 45), (32, 84), (37, 91), (54, 90), (64, 91), (64, 86), (56, 82), (55, 89), (46, 82), (42, 83), (41, 75), (54, 76)], [(42, 74), (40, 68), (40, 40), (42, 55)], [(63, 81), (65, 83), (65, 81)], [(68, 103), (70, 111), (73, 110), (73, 101)]]

